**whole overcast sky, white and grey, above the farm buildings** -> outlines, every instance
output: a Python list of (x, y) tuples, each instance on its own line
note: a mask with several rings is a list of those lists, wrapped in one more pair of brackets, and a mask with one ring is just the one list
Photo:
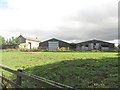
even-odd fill
[(119, 0), (0, 0), (0, 35), (117, 43)]

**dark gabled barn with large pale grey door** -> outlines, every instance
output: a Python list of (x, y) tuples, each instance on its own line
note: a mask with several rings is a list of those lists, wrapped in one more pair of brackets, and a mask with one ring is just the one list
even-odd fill
[(44, 42), (41, 42), (40, 48), (47, 49), (49, 51), (56, 51), (56, 50), (64, 51), (64, 50), (69, 50), (70, 44), (65, 41), (52, 38)]

